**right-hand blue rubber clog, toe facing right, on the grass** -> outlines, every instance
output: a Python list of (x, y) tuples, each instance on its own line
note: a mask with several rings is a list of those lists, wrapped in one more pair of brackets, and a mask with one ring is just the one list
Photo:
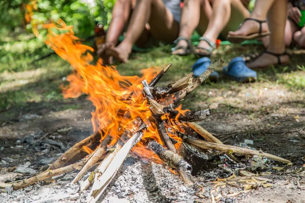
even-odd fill
[(233, 58), (228, 66), (223, 68), (223, 73), (237, 82), (255, 82), (257, 73), (246, 66), (242, 57)]

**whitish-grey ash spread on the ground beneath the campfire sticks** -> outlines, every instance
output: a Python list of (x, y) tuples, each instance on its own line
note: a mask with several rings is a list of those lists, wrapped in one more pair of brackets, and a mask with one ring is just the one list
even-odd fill
[[(14, 191), (13, 194), (0, 193), (0, 202), (85, 202), (89, 189), (78, 194), (79, 186), (68, 184), (77, 173), (58, 177), (56, 183), (36, 184)], [(185, 186), (178, 175), (157, 163), (142, 162), (129, 156), (121, 166), (116, 178), (108, 186), (98, 202), (154, 203), (154, 202), (194, 202), (198, 198), (192, 187)], [(62, 199), (62, 201), (59, 200)]]

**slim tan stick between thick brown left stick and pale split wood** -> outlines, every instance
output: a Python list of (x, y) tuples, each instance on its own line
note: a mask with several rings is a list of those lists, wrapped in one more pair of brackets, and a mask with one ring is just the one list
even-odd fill
[(79, 181), (85, 175), (85, 173), (90, 170), (90, 168), (101, 158), (110, 141), (111, 136), (108, 134), (108, 136), (106, 136), (106, 138), (103, 140), (98, 149), (93, 152), (92, 156), (89, 158), (82, 170), (76, 175), (72, 183), (76, 183), (77, 181)]

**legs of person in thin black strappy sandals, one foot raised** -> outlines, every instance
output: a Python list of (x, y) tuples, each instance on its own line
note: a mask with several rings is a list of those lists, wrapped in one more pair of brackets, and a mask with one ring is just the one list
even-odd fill
[(253, 69), (287, 63), (289, 55), (286, 53), (284, 43), (286, 17), (287, 0), (256, 0), (250, 18), (246, 19), (236, 31), (230, 31), (227, 39), (231, 42), (241, 42), (247, 40), (249, 36), (262, 37), (262, 33), (269, 33), (269, 25), (268, 47), (246, 65)]

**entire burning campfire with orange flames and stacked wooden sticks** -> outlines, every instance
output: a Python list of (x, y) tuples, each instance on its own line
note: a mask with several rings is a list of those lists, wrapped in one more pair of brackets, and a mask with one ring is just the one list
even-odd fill
[[(141, 77), (121, 76), (114, 66), (105, 66), (101, 60), (93, 62), (89, 52), (94, 50), (80, 43), (72, 26), (59, 21), (44, 27), (48, 29), (46, 44), (75, 70), (68, 76), (70, 85), (63, 89), (64, 96), (85, 93), (96, 107), (92, 113), (95, 133), (43, 168), (44, 172), (12, 184), (14, 190), (79, 170), (72, 182), (80, 184), (80, 192), (92, 186), (86, 201), (96, 202), (131, 151), (142, 159), (166, 165), (187, 185), (193, 184), (192, 171), (195, 174), (203, 166), (201, 157), (206, 150), (222, 153), (232, 162), (238, 162), (242, 155), (257, 155), (290, 163), (262, 151), (224, 145), (195, 123), (207, 118), (209, 109), (182, 110), (180, 102), (222, 65), (221, 59), (212, 62), (198, 78), (191, 73), (160, 87), (158, 82), (171, 64), (159, 72), (153, 67), (143, 70)], [(90, 176), (79, 182), (96, 165)]]

